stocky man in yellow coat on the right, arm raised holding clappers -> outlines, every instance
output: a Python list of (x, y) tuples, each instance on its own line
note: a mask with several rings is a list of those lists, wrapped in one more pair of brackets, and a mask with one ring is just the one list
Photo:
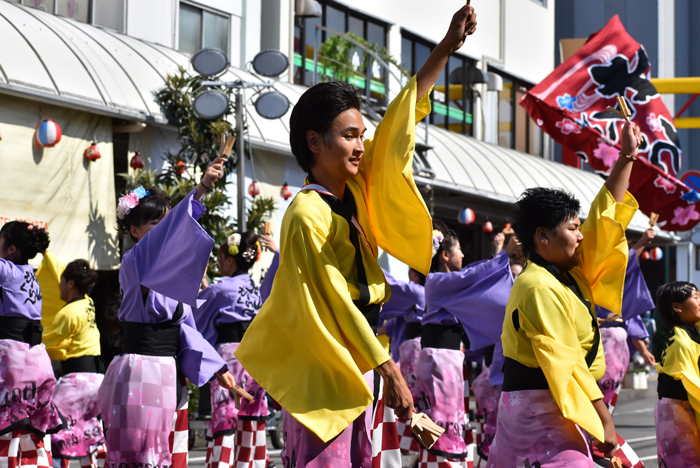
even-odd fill
[[(620, 313), (627, 268), (625, 230), (637, 210), (627, 191), (639, 128), (625, 125), (622, 152), (586, 221), (560, 189), (528, 189), (513, 224), (525, 270), (503, 323), (503, 393), (488, 467), (593, 467), (589, 437), (607, 456), (617, 447), (597, 381), (605, 358), (595, 304)], [(579, 229), (580, 227), (580, 229)], [(582, 432), (581, 429), (585, 432)]]

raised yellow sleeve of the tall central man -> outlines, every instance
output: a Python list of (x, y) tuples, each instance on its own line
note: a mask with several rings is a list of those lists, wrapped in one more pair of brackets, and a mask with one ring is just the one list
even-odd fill
[[(390, 255), (428, 274), (432, 220), (413, 180), (416, 124), (430, 113), (430, 92), (416, 102), (414, 76), (389, 104), (360, 167), (372, 232)], [(361, 186), (362, 181), (358, 180)]]

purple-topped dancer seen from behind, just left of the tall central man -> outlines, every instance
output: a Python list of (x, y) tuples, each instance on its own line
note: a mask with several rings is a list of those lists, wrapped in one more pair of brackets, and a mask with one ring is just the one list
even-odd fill
[(212, 382), (207, 467), (265, 468), (266, 465), (265, 390), (233, 354), (262, 306), (260, 291), (248, 274), (259, 254), (260, 243), (254, 233), (231, 234), (217, 253), (223, 277), (199, 293), (199, 298), (206, 302), (194, 311), (197, 329), (216, 347), (236, 382), (255, 398), (255, 402), (241, 399), (239, 410), (230, 391)]

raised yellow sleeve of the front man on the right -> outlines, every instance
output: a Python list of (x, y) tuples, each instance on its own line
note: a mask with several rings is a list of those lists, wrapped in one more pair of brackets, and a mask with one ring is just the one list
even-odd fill
[(629, 192), (617, 203), (603, 185), (581, 226), (581, 265), (577, 268), (590, 284), (593, 303), (618, 314), (629, 254), (625, 230), (638, 208)]

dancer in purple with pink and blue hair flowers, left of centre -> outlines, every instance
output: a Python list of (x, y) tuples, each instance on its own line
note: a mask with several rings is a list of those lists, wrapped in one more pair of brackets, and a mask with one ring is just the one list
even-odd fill
[(234, 384), (192, 316), (214, 244), (197, 222), (205, 211), (201, 200), (221, 176), (223, 162), (214, 160), (172, 211), (170, 198), (155, 188), (139, 187), (119, 200), (120, 230), (137, 243), (119, 271), (122, 354), (99, 391), (109, 466), (185, 467), (187, 391), (181, 373), (198, 386), (214, 376), (225, 387)]

